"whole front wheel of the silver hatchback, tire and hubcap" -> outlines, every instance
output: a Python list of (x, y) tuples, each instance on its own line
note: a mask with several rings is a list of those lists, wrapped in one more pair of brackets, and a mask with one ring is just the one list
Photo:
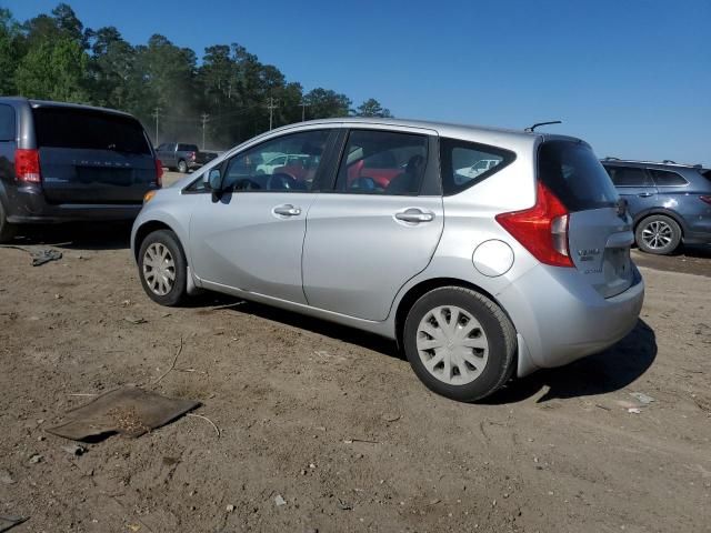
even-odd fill
[(188, 263), (172, 231), (153, 231), (143, 240), (138, 268), (143, 290), (154, 302), (172, 306), (186, 299)]

